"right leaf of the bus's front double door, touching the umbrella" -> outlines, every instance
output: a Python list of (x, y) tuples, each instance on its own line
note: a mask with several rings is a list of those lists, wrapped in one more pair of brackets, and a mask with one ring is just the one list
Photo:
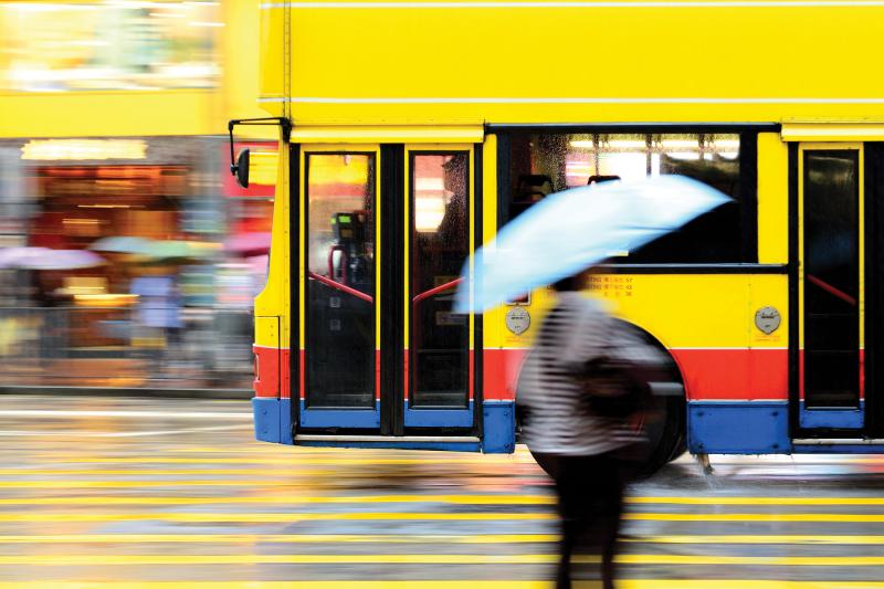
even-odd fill
[(474, 248), (473, 150), (406, 148), (404, 427), (472, 428), (472, 315), (453, 313)]

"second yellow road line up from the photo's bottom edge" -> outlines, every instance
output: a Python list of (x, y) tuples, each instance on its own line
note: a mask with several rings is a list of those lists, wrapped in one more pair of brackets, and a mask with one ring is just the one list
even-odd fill
[[(598, 564), (597, 555), (577, 555), (578, 564)], [(732, 565), (765, 567), (880, 567), (884, 556), (728, 556), (619, 555), (621, 565)], [(511, 555), (17, 555), (0, 556), (0, 566), (145, 566), (145, 565), (546, 565), (557, 554)]]

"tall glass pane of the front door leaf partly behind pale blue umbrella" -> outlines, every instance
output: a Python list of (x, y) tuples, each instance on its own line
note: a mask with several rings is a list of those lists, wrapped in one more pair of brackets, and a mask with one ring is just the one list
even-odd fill
[(467, 316), (451, 313), (470, 248), (469, 155), (419, 154), (411, 160), (411, 407), (466, 407)]

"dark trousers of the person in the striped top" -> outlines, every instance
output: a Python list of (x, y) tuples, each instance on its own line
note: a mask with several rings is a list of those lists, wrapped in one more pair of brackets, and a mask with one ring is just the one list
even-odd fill
[(601, 555), (604, 589), (613, 589), (623, 488), (631, 464), (613, 453), (569, 456), (532, 452), (556, 483), (561, 543), (556, 588), (571, 587), (571, 555), (577, 548)]

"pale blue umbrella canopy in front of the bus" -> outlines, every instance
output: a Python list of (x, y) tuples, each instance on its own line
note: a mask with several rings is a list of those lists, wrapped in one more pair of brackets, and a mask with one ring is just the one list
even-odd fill
[[(475, 254), (472, 285), (461, 283), (457, 313), (483, 312), (631, 251), (730, 201), (682, 176), (603, 182), (546, 197)], [(470, 276), (465, 265), (461, 274)]]

